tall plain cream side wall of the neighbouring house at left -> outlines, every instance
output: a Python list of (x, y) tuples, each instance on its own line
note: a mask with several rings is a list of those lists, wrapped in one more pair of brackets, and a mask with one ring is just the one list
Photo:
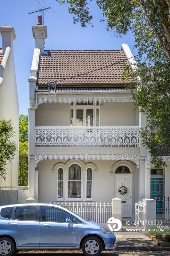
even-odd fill
[[(11, 119), (15, 127), (16, 143), (19, 141), (19, 105), (15, 77), (15, 66), (13, 60), (13, 51), (9, 53), (7, 64), (3, 73), (3, 82), (0, 85), (0, 119)], [(0, 186), (18, 186), (18, 151), (15, 159), (8, 164), (6, 179), (0, 178)]]

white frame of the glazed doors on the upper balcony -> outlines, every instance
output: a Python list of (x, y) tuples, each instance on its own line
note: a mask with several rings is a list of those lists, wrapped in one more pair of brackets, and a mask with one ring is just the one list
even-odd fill
[(97, 117), (97, 109), (99, 109), (99, 126), (100, 126), (100, 105), (97, 105), (97, 103), (93, 103), (93, 105), (77, 105), (77, 103), (73, 103), (73, 105), (70, 105), (70, 114), (69, 114), (69, 126), (70, 124), (70, 119), (71, 119), (71, 109), (73, 109), (73, 127), (76, 127), (76, 110), (77, 109), (83, 109), (84, 114), (83, 114), (83, 126), (86, 127), (86, 110), (87, 109), (93, 109), (93, 127), (96, 127), (96, 117)]

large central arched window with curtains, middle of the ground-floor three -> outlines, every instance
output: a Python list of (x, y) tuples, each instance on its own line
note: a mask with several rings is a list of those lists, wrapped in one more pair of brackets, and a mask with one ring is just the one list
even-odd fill
[(81, 198), (81, 167), (77, 164), (69, 167), (68, 197)]

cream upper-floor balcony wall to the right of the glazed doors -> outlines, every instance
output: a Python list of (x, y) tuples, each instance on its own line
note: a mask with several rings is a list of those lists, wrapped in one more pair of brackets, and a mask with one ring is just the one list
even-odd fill
[(132, 102), (103, 103), (101, 126), (139, 126), (139, 112)]

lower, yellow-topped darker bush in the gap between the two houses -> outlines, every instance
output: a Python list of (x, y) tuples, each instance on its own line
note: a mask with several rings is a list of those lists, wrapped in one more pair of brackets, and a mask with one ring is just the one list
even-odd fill
[(19, 186), (28, 185), (28, 142), (19, 141)]

